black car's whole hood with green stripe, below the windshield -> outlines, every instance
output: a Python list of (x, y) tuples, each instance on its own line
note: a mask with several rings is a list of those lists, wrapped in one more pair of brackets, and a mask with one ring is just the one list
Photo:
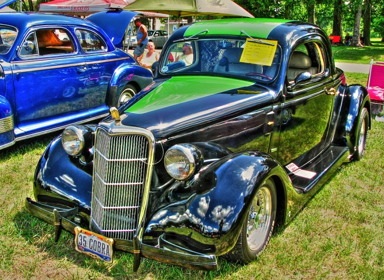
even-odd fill
[(240, 79), (174, 76), (135, 100), (123, 108), (121, 124), (146, 128), (163, 138), (273, 104), (273, 95)]

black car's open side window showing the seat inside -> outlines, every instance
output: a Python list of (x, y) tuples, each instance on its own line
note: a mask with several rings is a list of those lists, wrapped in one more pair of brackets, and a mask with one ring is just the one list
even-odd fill
[(304, 72), (310, 72), (312, 76), (325, 72), (324, 52), (318, 43), (310, 42), (297, 47), (292, 53), (286, 79), (293, 82), (294, 79)]

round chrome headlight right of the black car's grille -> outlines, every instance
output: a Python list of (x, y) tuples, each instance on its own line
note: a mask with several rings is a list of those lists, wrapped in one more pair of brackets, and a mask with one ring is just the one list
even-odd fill
[(164, 156), (164, 166), (168, 174), (179, 181), (189, 179), (203, 162), (198, 148), (188, 144), (169, 148)]

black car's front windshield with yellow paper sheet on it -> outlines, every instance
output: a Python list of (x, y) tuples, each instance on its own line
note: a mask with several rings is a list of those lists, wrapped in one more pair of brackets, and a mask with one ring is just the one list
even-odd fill
[(172, 75), (232, 76), (267, 83), (276, 77), (281, 61), (277, 42), (267, 42), (270, 43), (260, 44), (239, 37), (174, 43), (166, 50), (167, 59), (160, 71)]

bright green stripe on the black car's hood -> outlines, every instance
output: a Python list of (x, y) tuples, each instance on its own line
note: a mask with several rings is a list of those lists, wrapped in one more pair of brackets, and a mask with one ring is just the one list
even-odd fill
[(143, 114), (253, 84), (255, 83), (215, 76), (173, 76), (125, 112)]

